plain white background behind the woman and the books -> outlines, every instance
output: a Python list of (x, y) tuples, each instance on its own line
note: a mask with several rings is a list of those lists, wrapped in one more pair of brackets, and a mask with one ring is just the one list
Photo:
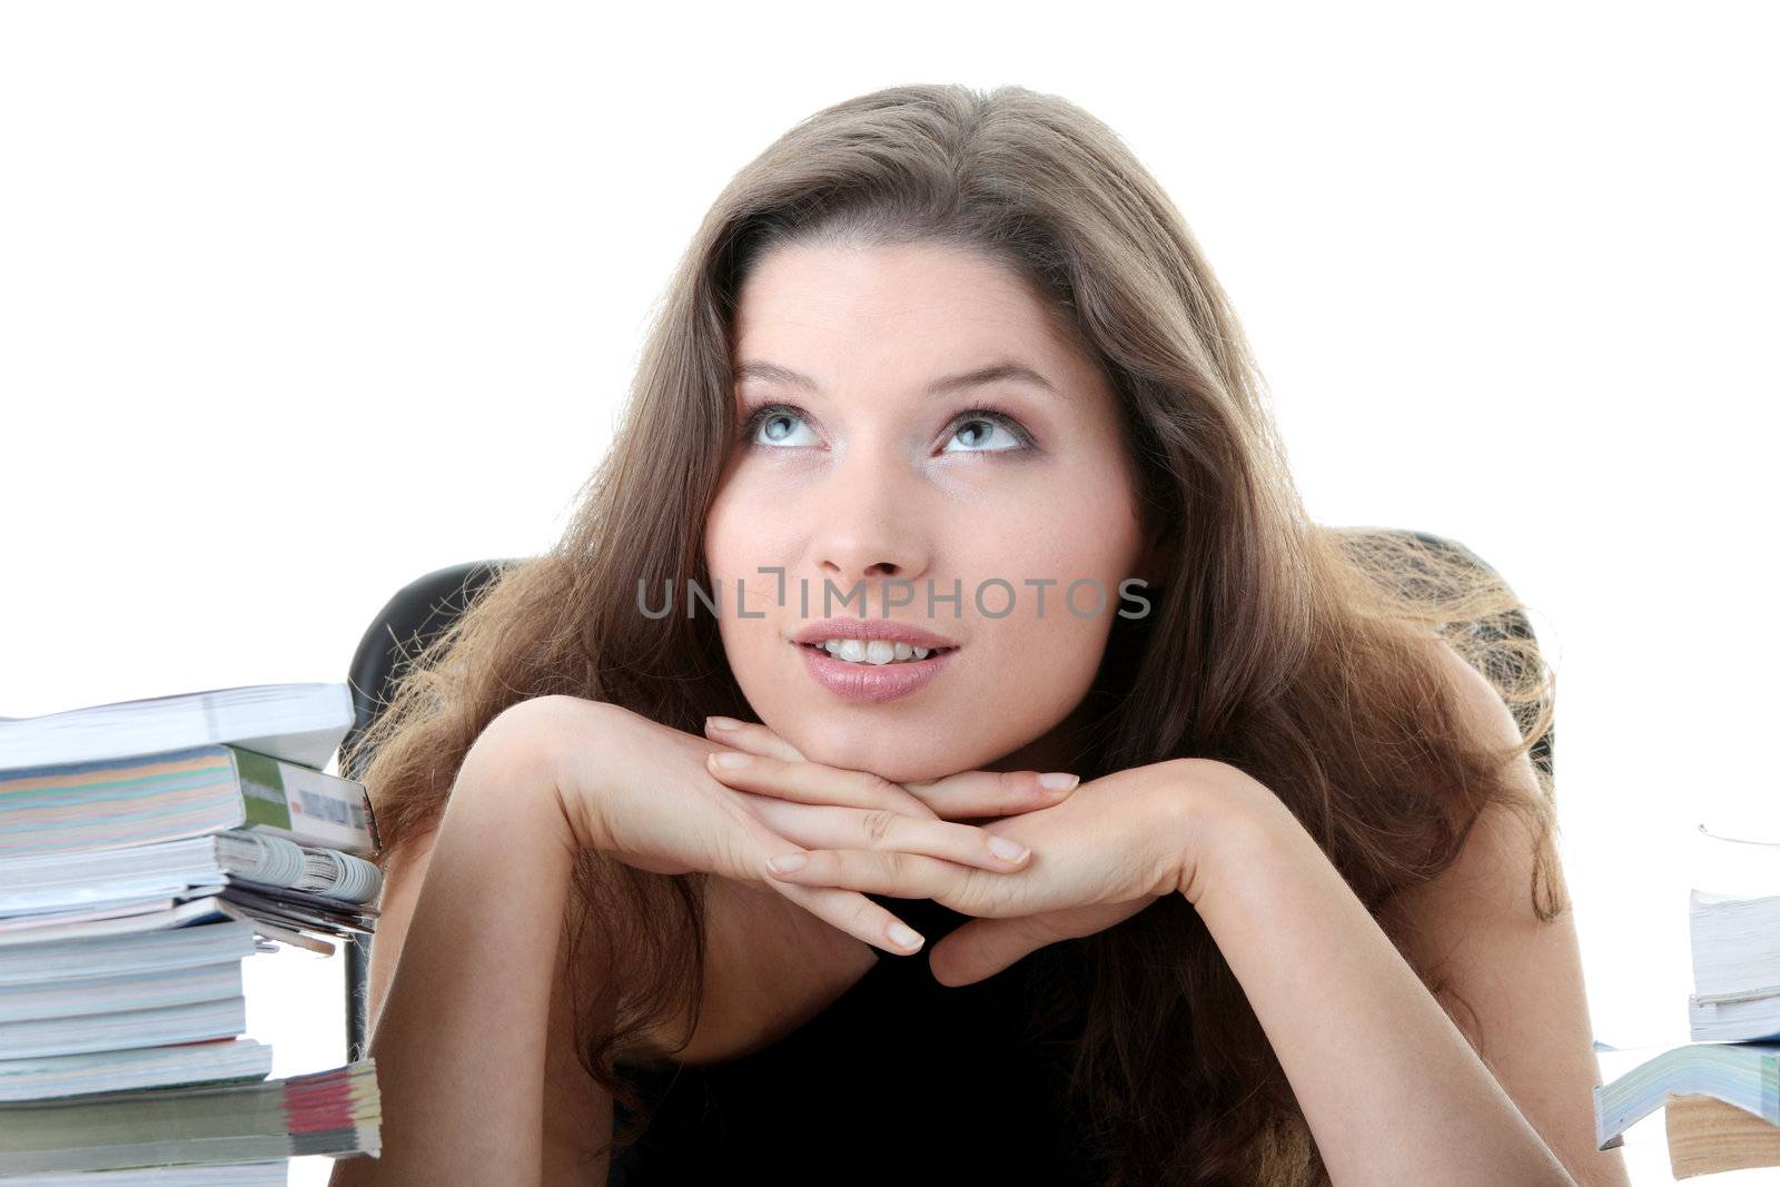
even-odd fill
[[(0, 714), (344, 680), (397, 587), (555, 537), (737, 167), (1018, 82), (1173, 194), (1312, 514), (1533, 605), (1597, 1036), (1686, 1041), (1693, 829), (1780, 829), (1771, 12), (7, 5)], [(344, 1059), (338, 961), (249, 977), (278, 1075)], [(1670, 1182), (1661, 1112), (1625, 1153)]]

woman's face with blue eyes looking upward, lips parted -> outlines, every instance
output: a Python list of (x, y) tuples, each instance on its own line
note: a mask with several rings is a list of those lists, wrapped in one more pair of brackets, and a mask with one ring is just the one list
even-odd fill
[[(739, 294), (733, 361), (748, 427), (705, 562), (760, 721), (813, 762), (895, 781), (1048, 769), (1114, 612), (1143, 609), (1120, 594), (1143, 539), (1100, 370), (1020, 279), (938, 246), (769, 253)], [(849, 662), (797, 642), (847, 626), (949, 650), (860, 644)], [(908, 658), (872, 662), (886, 653)]]

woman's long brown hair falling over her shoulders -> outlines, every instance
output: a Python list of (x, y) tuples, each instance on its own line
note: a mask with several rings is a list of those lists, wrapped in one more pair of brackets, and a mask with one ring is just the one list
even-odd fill
[[(436, 828), (470, 744), (516, 701), (603, 699), (694, 735), (708, 714), (751, 715), (712, 616), (651, 619), (635, 591), (710, 587), (701, 532), (733, 440), (735, 295), (762, 251), (813, 238), (949, 244), (1015, 269), (1118, 393), (1143, 514), (1166, 550), (1150, 614), (1114, 619), (1072, 771), (1237, 765), (1374, 916), (1447, 868), (1499, 803), (1533, 826), (1538, 916), (1565, 909), (1550, 772), (1536, 763), (1538, 797), (1513, 772), (1552, 717), (1550, 669), (1504, 628), (1520, 602), (1412, 534), (1307, 518), (1260, 372), (1178, 210), (1105, 125), (1013, 85), (899, 85), (837, 103), (730, 182), (680, 260), (562, 539), (490, 582), (358, 739), (356, 755), (374, 751), (365, 783), (386, 852)], [(1467, 733), (1436, 637), (1511, 705), (1518, 749)], [(644, 1025), (696, 1018), (707, 877), (600, 854), (577, 867), (564, 934), (577, 952), (623, 952), (630, 970), (621, 989), (591, 979), (586, 1020), (603, 1023), (584, 1020), (580, 1055), (639, 1116), (614, 1059)], [(1052, 949), (1077, 963), (1088, 1021), (1070, 1093), (1107, 1182), (1321, 1175), (1283, 1070), (1185, 899)]]

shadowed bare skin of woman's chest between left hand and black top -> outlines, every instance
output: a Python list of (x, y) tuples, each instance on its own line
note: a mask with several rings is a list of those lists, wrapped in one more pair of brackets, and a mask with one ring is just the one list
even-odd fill
[(767, 886), (712, 876), (705, 920), (705, 1000), (691, 1043), (675, 1048), (685, 1020), (664, 1023), (627, 1059), (739, 1059), (806, 1023), (878, 963), (872, 945)]

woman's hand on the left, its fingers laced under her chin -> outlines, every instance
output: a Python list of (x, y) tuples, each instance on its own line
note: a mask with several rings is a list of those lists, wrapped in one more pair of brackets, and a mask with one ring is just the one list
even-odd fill
[(899, 956), (918, 950), (922, 938), (892, 911), (856, 890), (767, 877), (767, 858), (799, 847), (897, 849), (1000, 872), (1031, 860), (997, 856), (991, 833), (938, 819), (894, 783), (865, 806), (794, 803), (726, 787), (707, 771), (708, 739), (619, 705), (545, 696), (502, 717), (538, 731), (580, 847), (655, 874), (700, 870), (773, 886), (829, 925)]

